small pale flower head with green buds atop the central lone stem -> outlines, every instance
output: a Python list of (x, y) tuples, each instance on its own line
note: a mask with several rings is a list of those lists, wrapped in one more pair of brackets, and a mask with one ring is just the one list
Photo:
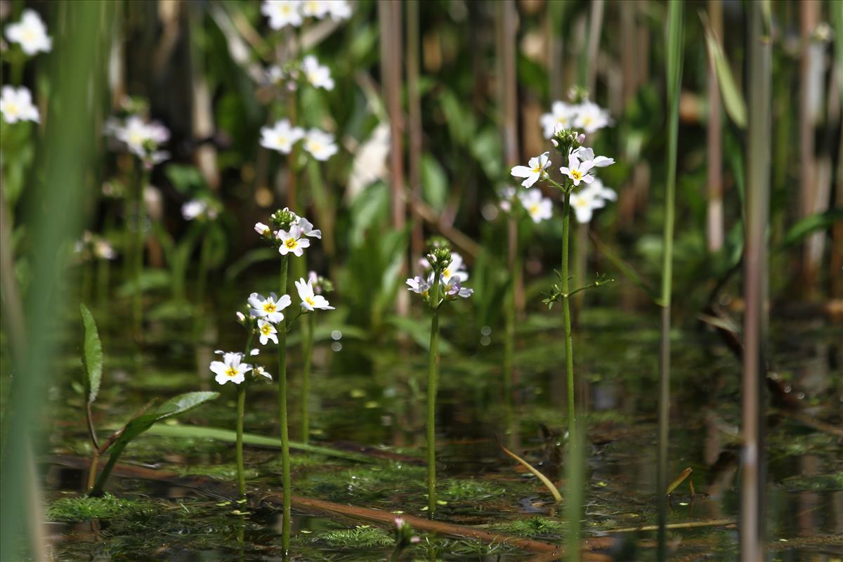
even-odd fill
[(426, 257), (419, 260), (424, 276), (407, 279), (408, 290), (421, 295), (433, 308), (443, 301), (453, 301), (459, 297), (468, 298), (474, 289), (464, 287), (468, 281), (468, 271), (464, 270), (461, 255), (452, 252), (447, 243), (435, 241)]

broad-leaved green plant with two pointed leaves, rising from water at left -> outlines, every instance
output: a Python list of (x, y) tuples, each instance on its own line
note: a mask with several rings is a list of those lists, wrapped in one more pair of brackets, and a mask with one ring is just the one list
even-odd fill
[[(156, 400), (149, 402), (126, 425), (115, 431), (102, 445), (99, 444), (94, 420), (91, 415), (91, 406), (99, 393), (99, 385), (102, 382), (103, 374), (103, 351), (99, 341), (99, 332), (94, 316), (84, 305), (79, 305), (82, 313), (82, 323), (85, 329), (83, 340), (82, 363), (84, 367), (83, 386), (85, 390), (85, 419), (88, 422), (88, 435), (91, 441), (91, 468), (88, 476), (88, 495), (102, 495), (105, 482), (108, 480), (111, 470), (120, 458), (123, 451), (132, 439), (147, 431), (155, 422), (165, 420), (174, 415), (184, 414), (191, 409), (201, 406), (210, 400), (217, 399), (219, 393), (194, 392), (184, 393), (157, 404)], [(99, 458), (105, 452), (110, 452), (108, 463), (105, 464), (102, 472), (97, 477), (97, 465)]]

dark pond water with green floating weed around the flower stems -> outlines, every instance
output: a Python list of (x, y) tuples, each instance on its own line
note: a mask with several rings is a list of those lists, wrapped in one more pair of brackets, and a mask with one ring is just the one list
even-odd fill
[[(222, 308), (221, 308), (222, 309)], [(228, 308), (227, 308), (228, 309)], [(204, 326), (207, 340), (239, 349), (242, 332), (228, 315)], [(422, 319), (422, 322), (426, 319)], [(330, 332), (338, 324), (319, 318), (310, 404), (311, 442), (352, 442), (406, 457), (421, 457), (427, 356), (411, 340), (380, 335), (377, 344)], [(234, 429), (234, 388), (218, 388), (207, 363), (217, 345), (191, 341), (191, 323), (153, 322), (142, 351), (119, 336), (118, 323), (101, 328), (106, 368), (98, 407), (100, 427), (114, 427), (148, 399), (197, 388), (220, 389), (215, 403), (180, 418), (182, 425)], [(218, 328), (217, 328), (218, 326)], [(588, 471), (583, 533), (620, 538), (613, 556), (653, 559), (655, 533), (623, 531), (656, 519), (656, 386), (658, 324), (655, 317), (593, 309), (583, 314), (575, 340), (577, 404), (587, 414)], [(342, 329), (340, 329), (342, 331)], [(438, 518), (498, 529), (501, 533), (565, 541), (563, 506), (497, 446), (507, 446), (539, 466), (565, 490), (564, 360), (555, 314), (534, 314), (519, 324), (518, 384), (514, 404), (502, 399), (502, 334), (467, 329), (445, 318), (438, 396)], [(822, 323), (773, 326), (772, 360), (781, 386), (799, 404), (797, 414), (770, 410), (768, 418), (767, 527), (769, 559), (840, 560), (843, 556), (843, 439), (822, 422), (841, 426), (840, 337)], [(336, 338), (336, 339), (335, 339)], [(698, 525), (668, 533), (671, 559), (736, 559), (739, 470), (739, 363), (710, 329), (676, 331), (672, 373), (670, 474), (692, 468), (671, 497), (668, 522)], [(220, 346), (226, 346), (220, 344)], [(291, 436), (299, 437), (300, 364), (291, 352)], [(275, 372), (275, 355), (262, 364)], [(82, 397), (68, 390), (77, 378), (51, 389), (56, 412), (53, 452), (87, 454)], [(198, 366), (198, 367), (197, 367)], [(276, 387), (250, 388), (246, 431), (277, 435)], [(105, 431), (100, 430), (100, 433)], [(246, 447), (250, 485), (280, 488), (277, 450)], [(123, 458), (181, 474), (210, 474), (234, 482), (234, 446), (208, 439), (146, 435)], [(424, 517), (425, 472), (412, 460), (352, 463), (294, 452), (293, 487), (299, 495)], [(78, 470), (46, 469), (47, 500), (71, 497), (83, 487)], [(233, 506), (196, 490), (137, 479), (113, 478), (110, 491), (141, 500), (114, 517), (51, 524), (59, 560), (277, 560), (282, 558), (280, 511)], [(55, 513), (52, 514), (55, 517)], [(714, 524), (717, 523), (717, 524)], [(392, 551), (386, 533), (367, 522), (294, 512), (293, 559), (379, 560)], [(534, 554), (501, 544), (423, 535), (402, 559), (521, 560)]]

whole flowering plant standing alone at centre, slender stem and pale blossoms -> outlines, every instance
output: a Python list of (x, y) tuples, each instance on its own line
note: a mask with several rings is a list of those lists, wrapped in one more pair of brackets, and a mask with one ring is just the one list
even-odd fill
[(463, 259), (452, 252), (448, 243), (435, 239), (427, 258), (421, 265), (428, 270), (426, 276), (408, 279), (411, 292), (418, 293), (432, 310), (430, 323), (430, 349), (427, 361), (427, 510), (433, 517), (436, 512), (436, 389), (439, 372), (439, 308), (444, 302), (468, 298), (474, 289), (462, 286), (468, 272), (462, 269)]

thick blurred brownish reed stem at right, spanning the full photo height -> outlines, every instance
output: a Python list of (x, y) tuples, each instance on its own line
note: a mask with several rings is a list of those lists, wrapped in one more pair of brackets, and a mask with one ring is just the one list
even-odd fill
[(741, 558), (763, 560), (764, 386), (767, 318), (767, 223), (770, 210), (771, 44), (762, 7), (749, 5), (749, 131), (747, 136), (746, 248), (744, 251), (744, 382), (741, 454)]

